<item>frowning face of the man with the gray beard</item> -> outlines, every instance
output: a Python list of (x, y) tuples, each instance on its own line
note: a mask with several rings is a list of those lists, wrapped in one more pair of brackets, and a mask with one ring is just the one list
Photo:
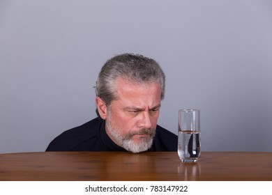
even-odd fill
[(117, 100), (107, 109), (106, 132), (117, 145), (133, 153), (149, 149), (160, 111), (160, 84), (117, 80)]

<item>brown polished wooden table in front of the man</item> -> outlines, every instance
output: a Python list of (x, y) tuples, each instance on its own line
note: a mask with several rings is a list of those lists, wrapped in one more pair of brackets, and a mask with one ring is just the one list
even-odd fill
[(272, 153), (47, 152), (0, 155), (0, 180), (272, 180)]

